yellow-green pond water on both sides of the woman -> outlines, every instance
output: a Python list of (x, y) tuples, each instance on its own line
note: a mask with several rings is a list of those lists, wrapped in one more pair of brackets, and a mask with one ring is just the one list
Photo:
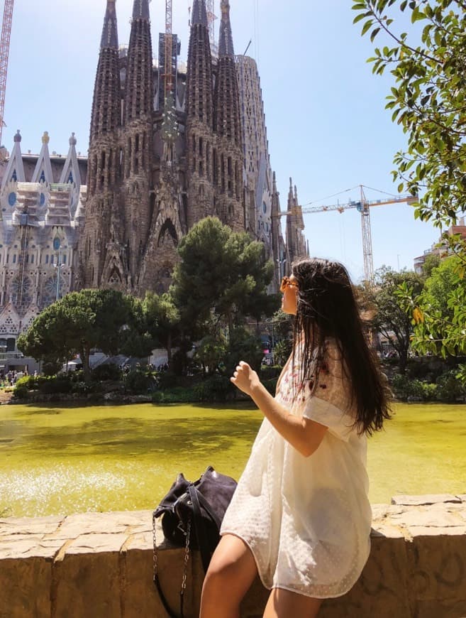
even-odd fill
[[(466, 406), (397, 404), (369, 440), (372, 503), (466, 493)], [(1, 406), (0, 516), (152, 509), (177, 472), (238, 478), (262, 418), (250, 408)]]

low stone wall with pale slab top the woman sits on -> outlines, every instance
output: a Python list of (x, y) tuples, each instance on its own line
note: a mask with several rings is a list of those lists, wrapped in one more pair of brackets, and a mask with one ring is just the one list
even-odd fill
[[(466, 494), (398, 496), (373, 506), (372, 551), (348, 595), (319, 618), (465, 618)], [(178, 606), (184, 551), (160, 541), (160, 580)], [(151, 511), (0, 519), (0, 618), (165, 618), (152, 584)], [(184, 606), (196, 617), (203, 573), (189, 561)], [(241, 616), (260, 617), (267, 591)]]

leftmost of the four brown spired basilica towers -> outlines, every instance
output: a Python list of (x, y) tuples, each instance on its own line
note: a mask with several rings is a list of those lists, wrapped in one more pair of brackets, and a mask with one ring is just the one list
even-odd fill
[(86, 222), (79, 238), (77, 287), (126, 288), (121, 219), (120, 64), (115, 0), (107, 0), (94, 85)]

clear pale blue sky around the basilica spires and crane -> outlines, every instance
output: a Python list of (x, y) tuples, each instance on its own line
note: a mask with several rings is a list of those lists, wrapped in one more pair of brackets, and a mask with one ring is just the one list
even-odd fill
[[(353, 26), (351, 0), (230, 0), (236, 53), (259, 65), (272, 168), (282, 210), (289, 177), (301, 204), (332, 205), (359, 197), (357, 185), (396, 193), (390, 174), (406, 136), (384, 110), (389, 75), (372, 75), (368, 38)], [(173, 0), (174, 31), (186, 60), (188, 7)], [(220, 1), (216, 0), (219, 14)], [(133, 1), (117, 0), (120, 43), (128, 43)], [(66, 155), (72, 131), (87, 152), (89, 119), (106, 0), (16, 0), (2, 141), (9, 150), (21, 129), (23, 152), (38, 153), (43, 131), (50, 151)], [(165, 28), (165, 0), (152, 0), (152, 40)], [(406, 26), (403, 28), (406, 29)], [(382, 40), (379, 41), (382, 43)], [(340, 191), (354, 188), (341, 195)], [(368, 199), (380, 193), (366, 190)], [(335, 197), (328, 197), (335, 195)], [(409, 205), (371, 209), (374, 266), (413, 267), (438, 240)], [(338, 259), (363, 275), (360, 215), (355, 210), (304, 215), (311, 254)]]

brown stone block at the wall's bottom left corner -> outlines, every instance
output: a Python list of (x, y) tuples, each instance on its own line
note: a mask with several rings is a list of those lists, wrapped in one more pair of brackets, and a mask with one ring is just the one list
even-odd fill
[(51, 560), (0, 560), (0, 618), (50, 618), (51, 583)]

